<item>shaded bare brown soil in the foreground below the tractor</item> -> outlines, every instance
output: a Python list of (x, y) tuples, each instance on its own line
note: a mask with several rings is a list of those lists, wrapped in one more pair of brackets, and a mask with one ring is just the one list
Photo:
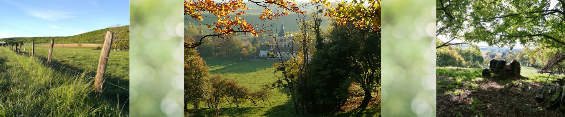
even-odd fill
[[(437, 85), (448, 86), (454, 80), (448, 79), (450, 76), (438, 76), (437, 81), (447, 80)], [(506, 79), (500, 79), (497, 75), (486, 78), (481, 82), (477, 89), (467, 88), (467, 83), (463, 82), (455, 85), (460, 89), (459, 94), (445, 93), (445, 88), (437, 89), (437, 116), (515, 116), (512, 107), (519, 106), (521, 116), (563, 116), (558, 109), (546, 110), (544, 104), (534, 101), (534, 93), (522, 88), (523, 84), (511, 84), (514, 80), (524, 79), (519, 75), (508, 75)], [(506, 86), (506, 84), (509, 84)], [(533, 88), (538, 89), (543, 83), (529, 82)], [(506, 88), (505, 88), (506, 87)], [(453, 89), (451, 89), (453, 91)], [(477, 100), (483, 105), (475, 104)]]

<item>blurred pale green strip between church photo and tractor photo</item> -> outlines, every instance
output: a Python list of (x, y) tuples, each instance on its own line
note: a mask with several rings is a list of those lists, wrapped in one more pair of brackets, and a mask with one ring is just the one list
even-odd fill
[(436, 116), (436, 1), (385, 0), (383, 116)]

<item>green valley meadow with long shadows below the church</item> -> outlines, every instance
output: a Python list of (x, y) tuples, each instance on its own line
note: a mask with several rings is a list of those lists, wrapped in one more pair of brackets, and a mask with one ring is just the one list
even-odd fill
[[(251, 91), (257, 91), (262, 88), (262, 84), (272, 83), (276, 80), (273, 74), (273, 61), (240, 61), (228, 58), (204, 58), (206, 64), (209, 64), (208, 70), (211, 75), (221, 73), (228, 79), (235, 79), (238, 83), (249, 88)], [(228, 103), (222, 105), (222, 116), (304, 116), (295, 115), (292, 100), (281, 91), (271, 90), (273, 98), (270, 99), (271, 106), (266, 102), (258, 102), (255, 107), (251, 102), (247, 102), (240, 107), (230, 106)], [(192, 105), (189, 105), (192, 107)], [(212, 116), (216, 112), (215, 109), (199, 109), (196, 116)], [(367, 108), (365, 111), (346, 111), (343, 113), (318, 114), (307, 116), (376, 116), (380, 114), (380, 107)]]

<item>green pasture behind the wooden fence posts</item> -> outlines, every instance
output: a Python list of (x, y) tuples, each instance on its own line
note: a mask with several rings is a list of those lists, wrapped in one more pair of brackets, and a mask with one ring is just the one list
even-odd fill
[[(94, 47), (54, 47), (52, 60), (56, 65), (78, 71), (79, 73), (85, 73), (90, 77), (95, 77), (101, 50), (92, 50), (93, 48)], [(25, 55), (29, 56), (29, 54), (31, 54), (31, 47), (26, 47)], [(49, 55), (48, 47), (35, 47), (34, 56), (40, 57), (40, 60), (47, 61), (45, 59), (47, 55)], [(116, 84), (123, 88), (129, 88), (129, 73), (126, 72), (129, 71), (128, 56), (129, 51), (110, 51), (110, 57), (108, 58), (106, 73), (104, 75), (106, 82)], [(78, 74), (75, 71), (60, 68), (56, 65), (51, 66), (57, 71), (68, 74)], [(112, 86), (111, 84), (104, 84), (102, 98), (108, 98), (108, 100), (112, 100), (112, 102), (115, 103), (119, 101), (121, 104), (124, 104), (124, 102), (128, 101), (129, 91)], [(129, 109), (129, 105), (125, 106)]]

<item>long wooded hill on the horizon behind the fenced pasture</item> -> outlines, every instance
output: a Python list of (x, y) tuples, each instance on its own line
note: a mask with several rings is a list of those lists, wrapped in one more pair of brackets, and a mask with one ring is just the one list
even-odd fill
[[(125, 39), (129, 39), (129, 25), (121, 26), (119, 28), (123, 29), (120, 31), (127, 32), (125, 33)], [(14, 43), (14, 42), (21, 43), (21, 42), (32, 42), (32, 41), (34, 41), (35, 43), (50, 43), (51, 42), (50, 39), (55, 39), (55, 43), (84, 42), (89, 40), (103, 40), (106, 35), (106, 31), (108, 30), (110, 30), (110, 28), (89, 31), (86, 33), (77, 34), (68, 37), (12, 37), (12, 38), (1, 38), (0, 41), (6, 41), (7, 43)], [(114, 34), (118, 34), (118, 33), (114, 32)], [(102, 44), (103, 41), (90, 42), (90, 43)]]

